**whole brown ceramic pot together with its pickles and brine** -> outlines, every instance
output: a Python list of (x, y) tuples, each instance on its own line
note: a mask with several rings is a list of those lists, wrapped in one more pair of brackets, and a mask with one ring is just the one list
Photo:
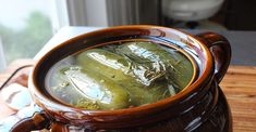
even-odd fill
[(230, 132), (219, 83), (228, 40), (159, 26), (120, 26), (70, 39), (29, 77), (33, 114), (11, 131)]

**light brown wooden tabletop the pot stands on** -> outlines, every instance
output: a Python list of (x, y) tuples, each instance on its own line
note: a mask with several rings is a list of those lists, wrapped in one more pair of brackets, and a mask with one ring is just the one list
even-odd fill
[[(31, 61), (12, 63), (5, 72), (0, 74), (0, 84), (13, 69), (27, 63)], [(256, 67), (230, 66), (220, 85), (231, 106), (234, 132), (256, 132)], [(12, 113), (0, 101), (0, 120)]]

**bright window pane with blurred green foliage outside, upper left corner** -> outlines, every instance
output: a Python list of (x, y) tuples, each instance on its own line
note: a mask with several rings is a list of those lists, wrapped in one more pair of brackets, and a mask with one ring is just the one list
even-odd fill
[(33, 57), (52, 36), (50, 14), (51, 0), (0, 0), (1, 62)]

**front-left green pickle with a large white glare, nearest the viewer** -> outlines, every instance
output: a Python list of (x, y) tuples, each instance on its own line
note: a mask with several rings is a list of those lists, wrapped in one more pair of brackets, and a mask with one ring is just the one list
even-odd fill
[(127, 92), (101, 75), (86, 69), (69, 69), (64, 74), (73, 90), (81, 93), (86, 98), (84, 101), (97, 104), (100, 109), (120, 109), (130, 106)]

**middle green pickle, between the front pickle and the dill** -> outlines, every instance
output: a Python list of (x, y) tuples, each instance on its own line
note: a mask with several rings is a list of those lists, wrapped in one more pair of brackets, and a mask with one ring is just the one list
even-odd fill
[[(94, 56), (92, 54), (94, 54)], [(100, 71), (101, 77), (106, 76), (125, 89), (133, 106), (154, 103), (170, 96), (167, 83), (162, 82), (147, 85), (136, 81), (136, 76), (126, 74), (126, 69), (129, 69), (127, 66), (130, 65), (129, 63), (131, 63), (130, 60), (99, 49), (88, 50), (77, 55), (78, 65), (92, 72)], [(139, 69), (129, 70), (137, 71)]]

